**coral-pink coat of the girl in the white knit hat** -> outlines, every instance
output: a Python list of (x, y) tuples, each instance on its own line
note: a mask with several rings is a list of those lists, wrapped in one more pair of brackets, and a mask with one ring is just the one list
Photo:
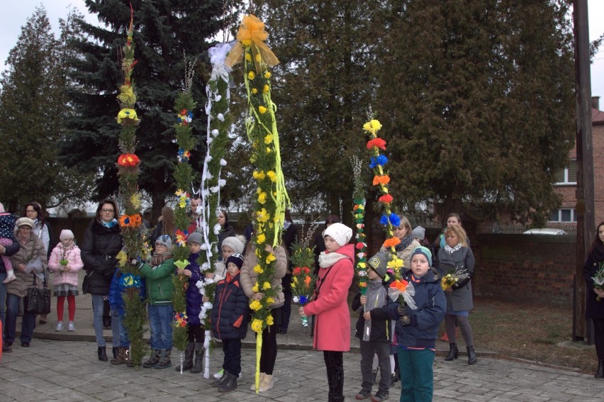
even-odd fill
[[(320, 268), (315, 300), (304, 306), (307, 316), (316, 315), (313, 347), (316, 350), (350, 350), (350, 311), (348, 289), (354, 278), (354, 245), (347, 244), (335, 253), (346, 258), (331, 267)], [(325, 252), (325, 254), (332, 254)]]

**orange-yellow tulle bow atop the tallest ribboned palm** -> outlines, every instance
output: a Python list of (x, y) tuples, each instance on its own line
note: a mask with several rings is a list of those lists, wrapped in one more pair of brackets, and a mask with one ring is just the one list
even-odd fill
[(232, 67), (235, 63), (243, 60), (243, 46), (252, 46), (252, 55), (256, 65), (256, 72), (262, 73), (264, 69), (260, 66), (260, 62), (273, 67), (279, 64), (279, 59), (273, 53), (271, 48), (264, 43), (267, 40), (269, 33), (264, 30), (264, 23), (259, 20), (254, 14), (243, 17), (239, 32), (237, 32), (237, 43), (233, 45), (228, 56), (225, 59), (225, 66)]

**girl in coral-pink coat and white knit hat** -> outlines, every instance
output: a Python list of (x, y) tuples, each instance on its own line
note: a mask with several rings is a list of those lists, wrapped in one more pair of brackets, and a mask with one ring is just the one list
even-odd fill
[(315, 315), (313, 347), (323, 350), (329, 383), (329, 401), (344, 401), (343, 352), (350, 350), (348, 289), (354, 278), (354, 245), (347, 244), (352, 229), (333, 223), (323, 234), (325, 251), (319, 255), (319, 274), (311, 303), (301, 316)]

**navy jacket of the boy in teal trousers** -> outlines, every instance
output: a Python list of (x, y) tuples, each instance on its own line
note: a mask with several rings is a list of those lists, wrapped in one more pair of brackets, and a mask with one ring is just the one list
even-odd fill
[(404, 326), (398, 323), (398, 303), (390, 301), (384, 308), (371, 310), (371, 320), (374, 318), (384, 320), (390, 318), (396, 321), (396, 342), (398, 346), (425, 347), (434, 349), (438, 327), (447, 310), (444, 291), (440, 287), (440, 277), (434, 272), (427, 272), (419, 281), (412, 281), (411, 271), (403, 274), (403, 279), (412, 282), (415, 289), (413, 301), (418, 306), (413, 310), (407, 306), (407, 314), (411, 318), (411, 325)]

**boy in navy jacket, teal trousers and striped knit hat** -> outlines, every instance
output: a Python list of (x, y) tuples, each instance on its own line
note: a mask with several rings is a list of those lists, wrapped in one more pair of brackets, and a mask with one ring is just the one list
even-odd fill
[(393, 302), (364, 314), (366, 320), (396, 320), (401, 402), (432, 401), (432, 364), (438, 327), (444, 318), (447, 302), (440, 287), (440, 277), (431, 267), (430, 250), (416, 247), (411, 253), (411, 269), (403, 274), (403, 279), (415, 288), (413, 301), (416, 309)]

